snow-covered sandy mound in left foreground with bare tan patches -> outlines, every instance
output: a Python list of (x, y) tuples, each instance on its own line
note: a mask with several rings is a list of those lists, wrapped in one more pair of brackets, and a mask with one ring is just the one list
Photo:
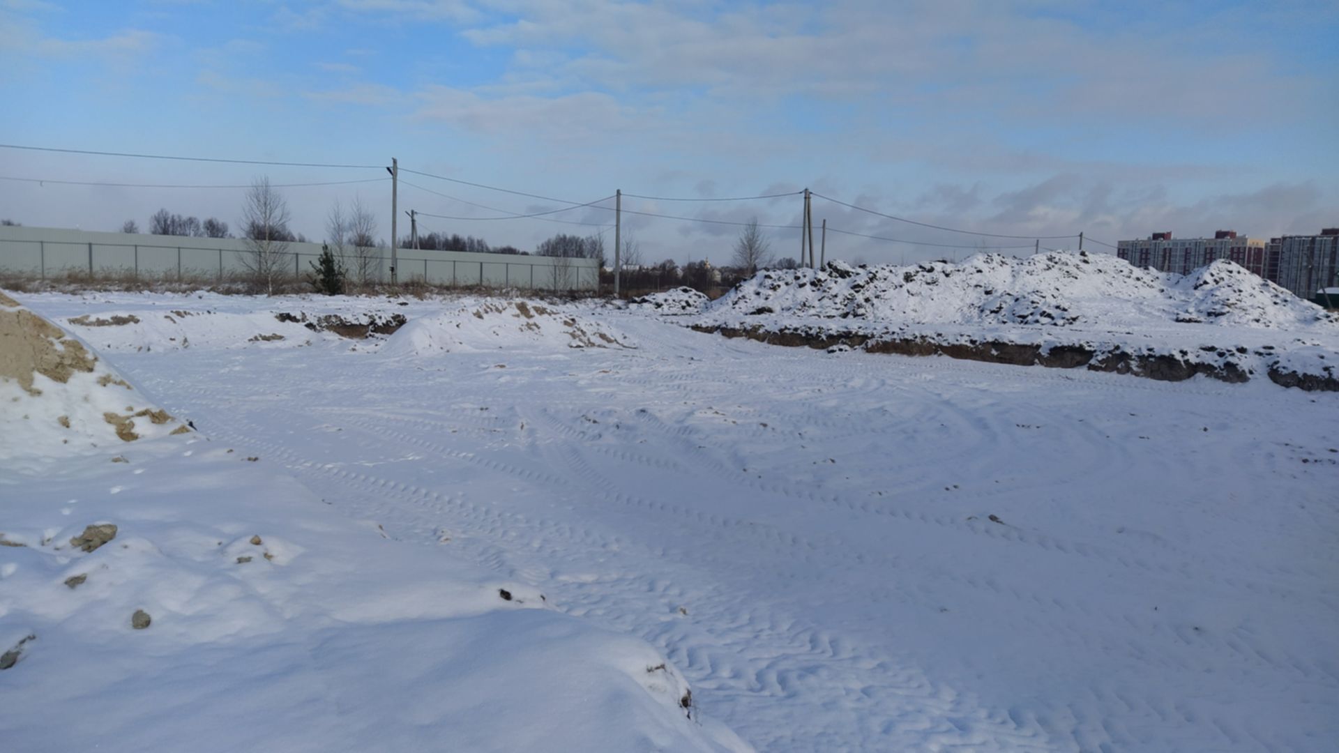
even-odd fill
[(340, 516), (266, 448), (190, 431), (0, 293), (7, 750), (747, 749), (647, 643), (466, 564), (450, 531)]

